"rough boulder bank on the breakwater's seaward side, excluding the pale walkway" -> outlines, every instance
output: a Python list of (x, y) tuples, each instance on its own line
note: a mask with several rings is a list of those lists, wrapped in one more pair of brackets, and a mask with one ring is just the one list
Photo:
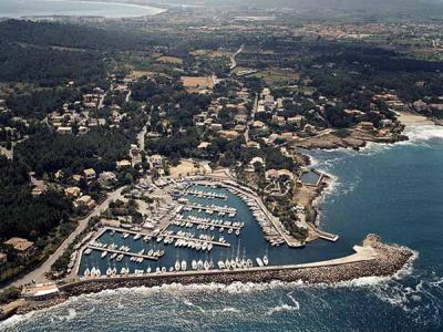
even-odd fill
[(307, 267), (269, 267), (250, 270), (231, 271), (189, 271), (150, 277), (121, 277), (85, 279), (60, 286), (64, 295), (80, 295), (94, 293), (106, 289), (156, 287), (162, 284), (181, 283), (233, 283), (239, 282), (270, 282), (280, 280), (286, 282), (302, 281), (305, 283), (336, 283), (363, 277), (389, 277), (401, 270), (411, 259), (413, 252), (395, 245), (384, 245), (377, 236), (370, 235), (363, 246), (374, 249), (377, 255), (371, 259), (362, 259), (334, 264), (306, 264)]

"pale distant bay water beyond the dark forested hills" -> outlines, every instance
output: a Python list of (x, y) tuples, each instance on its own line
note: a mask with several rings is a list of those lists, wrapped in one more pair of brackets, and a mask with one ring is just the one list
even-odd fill
[(109, 19), (154, 15), (163, 9), (116, 2), (80, 0), (0, 0), (0, 18), (103, 17)]

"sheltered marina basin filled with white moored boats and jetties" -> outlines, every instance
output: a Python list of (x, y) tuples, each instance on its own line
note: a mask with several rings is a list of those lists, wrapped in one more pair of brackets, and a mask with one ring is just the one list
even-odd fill
[[(106, 271), (110, 263), (115, 267), (116, 276), (147, 276), (185, 269), (227, 271), (309, 261), (309, 255), (293, 251), (299, 243), (246, 187), (233, 181), (193, 178), (163, 190), (181, 193), (174, 204), (168, 203), (173, 212), (162, 212), (158, 221), (154, 212), (150, 224), (157, 226), (150, 229), (103, 228), (84, 247), (76, 267), (80, 278), (92, 278), (91, 273), (86, 277), (86, 269)], [(162, 206), (158, 209), (166, 210)], [(106, 247), (96, 248), (94, 242)], [(110, 250), (109, 246), (116, 248)]]

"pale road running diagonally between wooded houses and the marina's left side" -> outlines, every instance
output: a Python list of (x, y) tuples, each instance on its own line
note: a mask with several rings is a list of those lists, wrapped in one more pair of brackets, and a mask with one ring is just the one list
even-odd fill
[(68, 249), (68, 247), (74, 241), (76, 236), (79, 236), (83, 230), (86, 229), (87, 222), (92, 217), (99, 216), (101, 212), (107, 209), (110, 203), (120, 198), (123, 189), (125, 187), (119, 188), (107, 195), (107, 198), (96, 206), (93, 211), (84, 219), (79, 221), (76, 229), (63, 241), (63, 243), (37, 269), (23, 276), (19, 280), (11, 283), (11, 286), (20, 287), (22, 284), (31, 283), (33, 280), (37, 282), (45, 282), (48, 281), (44, 276), (47, 272), (51, 270), (51, 266), (63, 255), (63, 252)]

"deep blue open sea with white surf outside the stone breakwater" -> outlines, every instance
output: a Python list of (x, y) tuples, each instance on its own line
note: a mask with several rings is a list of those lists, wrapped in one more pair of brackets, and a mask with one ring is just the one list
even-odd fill
[(406, 134), (395, 145), (310, 153), (332, 177), (319, 222), (340, 239), (293, 249), (339, 256), (374, 232), (415, 252), (394, 277), (110, 290), (12, 317), (0, 331), (443, 331), (443, 128)]

